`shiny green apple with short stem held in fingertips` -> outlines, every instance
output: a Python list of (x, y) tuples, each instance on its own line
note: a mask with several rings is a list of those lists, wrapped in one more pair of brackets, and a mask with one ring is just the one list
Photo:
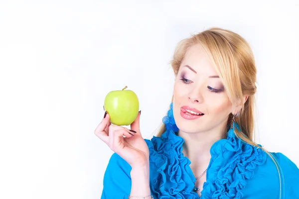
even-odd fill
[(105, 109), (110, 116), (110, 122), (115, 125), (130, 125), (136, 119), (139, 111), (139, 100), (131, 90), (111, 91), (104, 102)]

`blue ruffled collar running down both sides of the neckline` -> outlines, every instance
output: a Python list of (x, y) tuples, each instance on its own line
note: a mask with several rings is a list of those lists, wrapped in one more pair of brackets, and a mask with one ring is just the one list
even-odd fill
[[(159, 199), (199, 199), (193, 192), (191, 162), (182, 153), (183, 138), (168, 128), (161, 137), (153, 136), (147, 143), (149, 161), (157, 168), (151, 182), (153, 194)], [(200, 199), (241, 199), (246, 180), (253, 176), (257, 165), (266, 161), (266, 153), (238, 139), (232, 129), (227, 139), (212, 145), (210, 153)]]

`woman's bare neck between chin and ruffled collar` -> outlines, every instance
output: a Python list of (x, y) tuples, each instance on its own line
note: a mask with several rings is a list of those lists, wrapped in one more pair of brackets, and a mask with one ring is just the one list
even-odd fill
[(211, 158), (211, 146), (220, 139), (226, 139), (227, 127), (219, 125), (204, 132), (187, 133), (178, 131), (178, 136), (184, 139), (183, 153), (191, 162), (202, 162)]

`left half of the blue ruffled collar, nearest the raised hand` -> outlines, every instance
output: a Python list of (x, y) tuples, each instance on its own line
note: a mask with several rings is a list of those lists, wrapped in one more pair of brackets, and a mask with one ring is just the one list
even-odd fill
[[(182, 154), (184, 140), (173, 130), (166, 130), (161, 137), (153, 137), (149, 144), (149, 162), (155, 164), (157, 176), (151, 182), (151, 190), (158, 199), (195, 199), (190, 161)], [(191, 173), (190, 173), (191, 172)]]

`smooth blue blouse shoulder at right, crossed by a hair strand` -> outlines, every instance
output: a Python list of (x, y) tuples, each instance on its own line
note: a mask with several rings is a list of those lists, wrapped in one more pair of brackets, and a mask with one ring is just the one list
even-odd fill
[(282, 153), (266, 154), (264, 164), (256, 167), (253, 177), (248, 180), (245, 196), (260, 198), (297, 199), (299, 192), (299, 169)]

